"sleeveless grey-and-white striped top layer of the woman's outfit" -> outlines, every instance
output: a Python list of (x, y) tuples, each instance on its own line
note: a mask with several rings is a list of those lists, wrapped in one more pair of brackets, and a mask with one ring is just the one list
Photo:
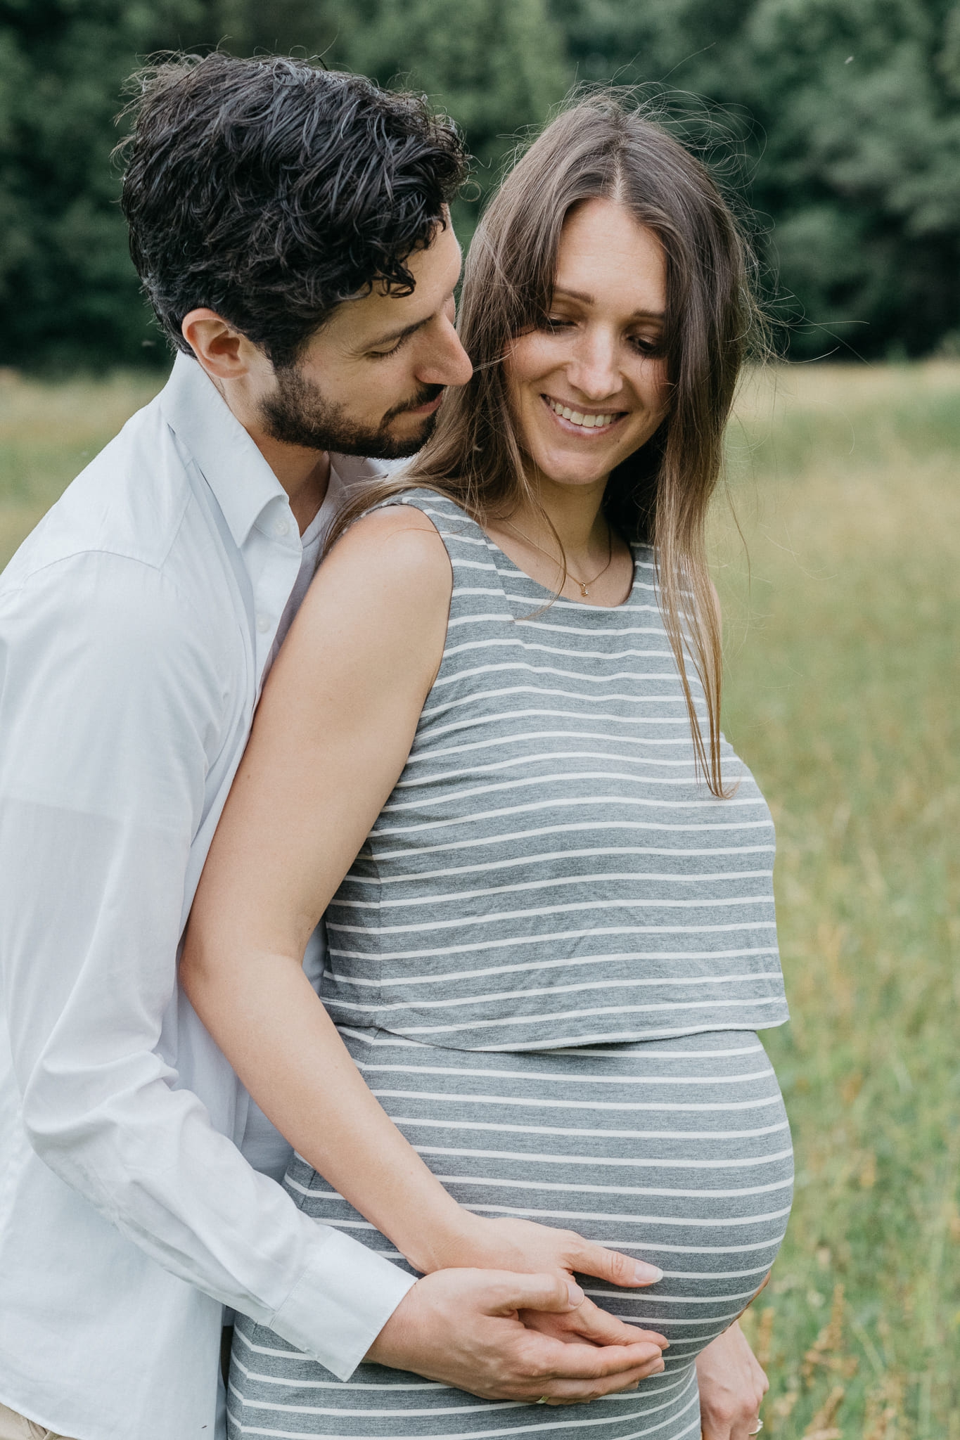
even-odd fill
[(327, 914), (335, 1022), (455, 1050), (783, 1024), (773, 822), (725, 740), (731, 798), (697, 776), (652, 550), (623, 605), (548, 603), (450, 500), (387, 503), (433, 521), (453, 593), (407, 763)]

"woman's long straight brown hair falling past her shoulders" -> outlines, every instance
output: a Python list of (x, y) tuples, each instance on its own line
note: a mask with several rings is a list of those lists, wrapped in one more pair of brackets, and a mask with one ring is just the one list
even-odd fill
[[(613, 471), (603, 505), (628, 540), (655, 547), (661, 611), (684, 685), (698, 768), (724, 796), (720, 766), (721, 629), (705, 556), (705, 521), (723, 433), (759, 312), (750, 251), (714, 180), (661, 125), (613, 95), (551, 121), (507, 176), (474, 236), (459, 333), (474, 377), (450, 392), (423, 451), (396, 480), (358, 494), (332, 543), (370, 505), (426, 485), (479, 524), (524, 497), (538, 505), (508, 402), (502, 359), (548, 314), (563, 223), (583, 200), (623, 204), (666, 258), (669, 413)], [(708, 737), (694, 707), (687, 657), (704, 688)]]

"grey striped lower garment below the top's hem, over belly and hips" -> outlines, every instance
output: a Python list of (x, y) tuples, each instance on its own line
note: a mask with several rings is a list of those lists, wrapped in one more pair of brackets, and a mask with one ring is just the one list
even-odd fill
[[(580, 1279), (599, 1305), (668, 1338), (666, 1369), (629, 1394), (543, 1408), (379, 1365), (344, 1382), (240, 1318), (230, 1440), (697, 1440), (694, 1359), (756, 1292), (790, 1208), (790, 1132), (756, 1034), (521, 1054), (343, 1034), (387, 1115), (465, 1208), (577, 1230), (661, 1266), (664, 1279), (643, 1290)], [(285, 1184), (307, 1214), (406, 1264), (305, 1161)]]

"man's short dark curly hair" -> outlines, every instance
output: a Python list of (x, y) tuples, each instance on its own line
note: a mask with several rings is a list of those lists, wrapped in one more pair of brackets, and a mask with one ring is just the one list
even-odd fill
[(335, 305), (443, 223), (466, 156), (425, 99), (284, 56), (176, 55), (140, 71), (122, 207), (157, 318), (209, 307), (284, 367)]

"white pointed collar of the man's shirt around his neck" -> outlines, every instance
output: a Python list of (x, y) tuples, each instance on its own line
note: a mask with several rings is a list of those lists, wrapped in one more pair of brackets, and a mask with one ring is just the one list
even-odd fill
[[(210, 377), (191, 356), (177, 354), (160, 396), (164, 418), (187, 446), (223, 511), (237, 547), (268, 505), (286, 491), (263, 459)], [(331, 455), (331, 468), (345, 488), (379, 480), (391, 467), (354, 455)], [(331, 482), (334, 477), (331, 474)]]

